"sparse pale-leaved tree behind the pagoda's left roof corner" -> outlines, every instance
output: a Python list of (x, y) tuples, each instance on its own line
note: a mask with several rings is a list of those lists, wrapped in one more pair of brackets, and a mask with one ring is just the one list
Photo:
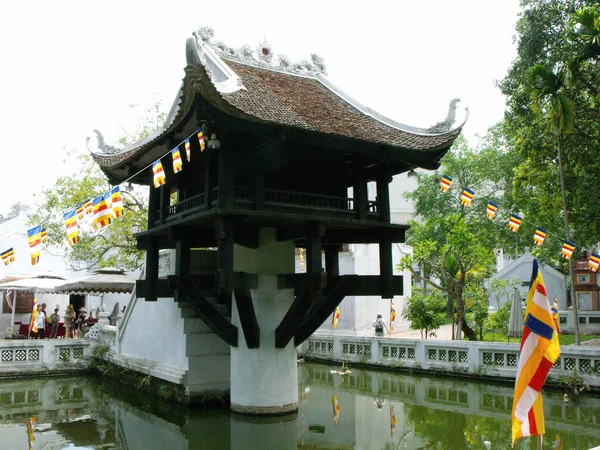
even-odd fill
[[(138, 105), (132, 105), (132, 108), (137, 109)], [(125, 136), (118, 140), (119, 143), (127, 146), (143, 139), (164, 121), (165, 116), (161, 104), (155, 103), (140, 115), (134, 132), (124, 130)], [(135, 270), (141, 267), (143, 252), (137, 250), (134, 234), (144, 231), (147, 226), (147, 188), (121, 186), (123, 216), (99, 231), (92, 229), (90, 219), (84, 219), (77, 244), (69, 247), (63, 214), (105, 193), (111, 186), (89, 154), (71, 151), (66, 158), (69, 167), (74, 167), (73, 171), (59, 177), (52, 187), (38, 195), (38, 207), (30, 215), (29, 222), (46, 227), (50, 243), (65, 250), (66, 261), (75, 270), (107, 266)]]

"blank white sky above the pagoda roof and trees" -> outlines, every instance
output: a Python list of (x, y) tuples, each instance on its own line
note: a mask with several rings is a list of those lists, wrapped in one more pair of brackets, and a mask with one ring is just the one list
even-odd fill
[(185, 42), (200, 26), (227, 45), (292, 61), (325, 58), (329, 79), (388, 117), (443, 120), (454, 97), (469, 107), (473, 141), (502, 119), (495, 87), (514, 59), (519, 0), (38, 1), (0, 15), (0, 213), (32, 202), (85, 150), (97, 128), (114, 144), (132, 129), (131, 104), (171, 102)]

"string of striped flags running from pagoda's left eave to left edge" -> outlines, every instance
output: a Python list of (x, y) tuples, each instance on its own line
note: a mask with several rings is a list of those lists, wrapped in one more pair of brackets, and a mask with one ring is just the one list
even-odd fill
[[(161, 158), (152, 163), (154, 187), (160, 187), (166, 183), (166, 175), (161, 163), (161, 159), (165, 156), (169, 154), (171, 155), (174, 173), (179, 173), (183, 170), (183, 161), (179, 151), (179, 147), (182, 144), (185, 149), (186, 161), (191, 161), (192, 146), (190, 143), (190, 138), (192, 136), (197, 137), (200, 151), (204, 151), (206, 148), (206, 143), (204, 126), (202, 126), (168, 153), (165, 153)], [(148, 167), (149, 166), (146, 166), (144, 169), (141, 169), (140, 172), (146, 170)], [(128, 180), (125, 180), (124, 182), (127, 181)], [(91, 228), (93, 230), (101, 230), (110, 225), (114, 219), (121, 217), (124, 213), (124, 210), (125, 208), (123, 206), (123, 197), (121, 196), (120, 186), (114, 186), (112, 189), (103, 193), (102, 195), (89, 198), (81, 205), (70, 209), (63, 214), (63, 223), (65, 225), (65, 231), (67, 235), (67, 244), (70, 247), (77, 244), (79, 240), (79, 233), (82, 228), (81, 225), (83, 223), (91, 223)], [(37, 225), (27, 230), (27, 241), (31, 253), (31, 265), (36, 265), (40, 261), (42, 250), (41, 244), (48, 242), (48, 233), (46, 228), (41, 225)], [(15, 262), (15, 252), (13, 247), (0, 252), (0, 256), (2, 257), (2, 261), (5, 265)]]

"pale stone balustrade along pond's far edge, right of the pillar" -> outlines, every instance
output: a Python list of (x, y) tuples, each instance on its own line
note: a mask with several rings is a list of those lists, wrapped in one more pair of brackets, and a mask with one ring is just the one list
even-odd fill
[[(312, 335), (298, 351), (321, 361), (512, 380), (519, 360), (518, 344), (320, 334)], [(575, 372), (590, 386), (600, 388), (600, 349), (563, 346), (548, 379), (557, 381)]]

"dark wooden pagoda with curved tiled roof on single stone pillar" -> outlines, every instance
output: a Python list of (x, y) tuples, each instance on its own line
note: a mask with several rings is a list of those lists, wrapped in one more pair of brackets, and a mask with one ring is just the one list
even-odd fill
[[(462, 124), (452, 128), (453, 101), (448, 119), (430, 129), (402, 125), (331, 84), (316, 55), (292, 64), (267, 45), (234, 50), (211, 38), (201, 29), (188, 40), (163, 127), (94, 157), (112, 183), (151, 186), (148, 230), (136, 236), (147, 252), (137, 295), (186, 302), (231, 346), (234, 410), (295, 410), (295, 346), (345, 296), (402, 294), (392, 244), (407, 227), (390, 221), (392, 176), (439, 167)], [(184, 162), (173, 173), (176, 146)], [(158, 159), (166, 184), (155, 189)], [(340, 276), (338, 253), (349, 243), (378, 244), (379, 276)], [(176, 273), (160, 279), (167, 248), (176, 249)], [(306, 250), (306, 274), (294, 274), (296, 248)]]

